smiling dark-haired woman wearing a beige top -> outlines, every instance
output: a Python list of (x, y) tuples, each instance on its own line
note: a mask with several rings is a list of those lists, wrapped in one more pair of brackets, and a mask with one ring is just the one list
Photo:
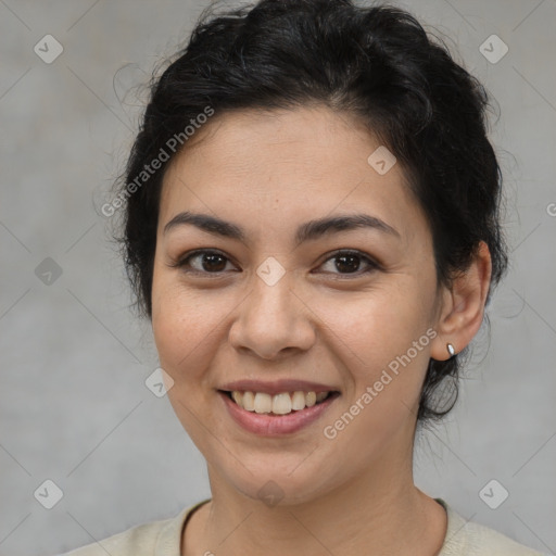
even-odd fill
[(103, 212), (212, 497), (68, 554), (539, 554), (413, 480), (506, 269), (488, 105), (400, 9), (198, 25)]

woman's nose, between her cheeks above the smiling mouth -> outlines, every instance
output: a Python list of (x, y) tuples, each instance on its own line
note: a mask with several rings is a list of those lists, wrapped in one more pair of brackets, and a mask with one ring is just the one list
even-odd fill
[(274, 286), (256, 275), (230, 327), (230, 344), (263, 359), (307, 351), (315, 342), (314, 313), (292, 290), (290, 274)]

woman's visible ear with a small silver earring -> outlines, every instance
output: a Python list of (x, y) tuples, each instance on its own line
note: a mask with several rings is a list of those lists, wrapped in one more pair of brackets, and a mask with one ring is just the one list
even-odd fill
[(457, 354), (472, 340), (483, 319), (491, 274), (489, 247), (481, 241), (469, 268), (454, 278), (450, 289), (443, 288), (434, 327), (438, 336), (431, 342), (430, 356), (433, 359), (450, 358), (447, 343)]

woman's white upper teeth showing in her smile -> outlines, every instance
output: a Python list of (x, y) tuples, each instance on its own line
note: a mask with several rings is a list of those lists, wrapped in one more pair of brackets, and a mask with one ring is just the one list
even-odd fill
[(317, 402), (321, 402), (330, 392), (281, 392), (270, 395), (265, 392), (231, 392), (233, 401), (243, 409), (255, 413), (275, 413), (286, 415), (293, 410), (312, 407)]

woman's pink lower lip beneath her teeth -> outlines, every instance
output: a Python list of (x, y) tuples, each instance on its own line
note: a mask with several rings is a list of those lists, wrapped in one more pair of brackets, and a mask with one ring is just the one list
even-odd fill
[(218, 392), (231, 418), (243, 429), (262, 437), (291, 434), (316, 421), (333, 403), (339, 394), (330, 394), (324, 402), (287, 415), (258, 414), (248, 412), (232, 402), (227, 394)]

